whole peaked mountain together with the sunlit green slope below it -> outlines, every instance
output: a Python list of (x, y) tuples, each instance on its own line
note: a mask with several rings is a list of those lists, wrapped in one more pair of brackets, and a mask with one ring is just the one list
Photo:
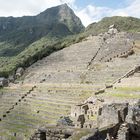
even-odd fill
[(1, 17), (0, 76), (8, 77), (19, 66), (28, 67), (67, 46), (83, 29), (80, 19), (66, 4), (49, 8), (37, 16)]

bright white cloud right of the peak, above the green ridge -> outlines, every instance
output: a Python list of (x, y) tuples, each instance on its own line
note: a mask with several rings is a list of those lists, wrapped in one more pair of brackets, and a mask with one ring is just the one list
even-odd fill
[(88, 5), (76, 13), (85, 26), (109, 16), (133, 16), (140, 18), (140, 0), (126, 0), (126, 2), (128, 6), (121, 9)]

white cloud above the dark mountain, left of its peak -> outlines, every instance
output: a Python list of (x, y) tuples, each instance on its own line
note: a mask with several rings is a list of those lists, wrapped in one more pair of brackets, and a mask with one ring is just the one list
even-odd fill
[(75, 0), (0, 0), (0, 16), (36, 15), (62, 3), (72, 6), (74, 2)]

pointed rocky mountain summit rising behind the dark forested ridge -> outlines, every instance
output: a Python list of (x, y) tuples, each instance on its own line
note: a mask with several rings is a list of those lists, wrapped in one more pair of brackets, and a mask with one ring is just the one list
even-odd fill
[(39, 21), (46, 21), (49, 24), (63, 23), (68, 26), (72, 33), (79, 33), (84, 26), (74, 11), (65, 3), (46, 9), (37, 15)]

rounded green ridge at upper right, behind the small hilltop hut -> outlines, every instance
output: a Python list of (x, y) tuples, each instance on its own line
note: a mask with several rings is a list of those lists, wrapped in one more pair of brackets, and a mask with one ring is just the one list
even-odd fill
[(99, 34), (106, 32), (108, 27), (115, 24), (120, 31), (140, 32), (140, 19), (134, 17), (105, 17), (97, 23), (92, 23), (86, 28), (87, 34)]

